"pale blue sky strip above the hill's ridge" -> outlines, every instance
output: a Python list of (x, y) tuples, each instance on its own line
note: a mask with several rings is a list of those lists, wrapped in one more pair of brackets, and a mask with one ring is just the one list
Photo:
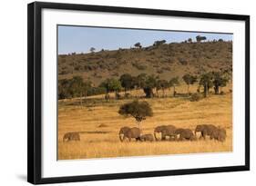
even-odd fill
[(225, 41), (232, 40), (232, 34), (59, 25), (58, 54), (88, 53), (91, 47), (96, 48), (96, 51), (101, 49), (116, 50), (118, 48), (133, 47), (138, 42), (142, 46), (148, 46), (157, 40), (166, 40), (167, 43), (172, 43), (192, 38), (195, 41), (195, 37), (199, 34), (206, 36), (207, 40), (218, 40), (220, 38)]

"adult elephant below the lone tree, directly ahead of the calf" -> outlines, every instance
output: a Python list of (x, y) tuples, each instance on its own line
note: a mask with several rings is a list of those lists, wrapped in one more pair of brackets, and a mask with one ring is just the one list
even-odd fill
[(136, 141), (140, 140), (140, 130), (137, 127), (122, 127), (119, 131), (119, 139), (123, 142), (126, 138), (128, 138), (129, 142), (132, 138), (135, 138)]

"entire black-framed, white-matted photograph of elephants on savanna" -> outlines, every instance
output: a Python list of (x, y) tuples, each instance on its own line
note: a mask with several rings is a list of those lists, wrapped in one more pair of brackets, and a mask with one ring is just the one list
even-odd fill
[(28, 5), (27, 180), (250, 170), (250, 16)]

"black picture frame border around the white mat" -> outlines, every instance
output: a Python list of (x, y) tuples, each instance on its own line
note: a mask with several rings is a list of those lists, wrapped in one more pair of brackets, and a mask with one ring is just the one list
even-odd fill
[[(82, 175), (42, 178), (41, 131), (42, 131), (42, 73), (41, 73), (41, 23), (42, 9), (110, 12), (138, 15), (164, 15), (210, 19), (240, 20), (245, 23), (245, 164), (240, 166), (210, 167), (175, 171), (143, 171), (113, 174)], [(209, 14), (198, 12), (114, 7), (101, 5), (74, 5), (35, 2), (27, 6), (27, 181), (34, 184), (69, 181), (100, 181), (141, 177), (199, 174), (224, 171), (250, 170), (250, 16)]]

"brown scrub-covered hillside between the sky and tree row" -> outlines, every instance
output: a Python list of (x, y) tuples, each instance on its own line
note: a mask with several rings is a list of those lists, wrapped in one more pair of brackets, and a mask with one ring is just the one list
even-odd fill
[(169, 80), (184, 73), (231, 72), (231, 69), (231, 42), (171, 43), (58, 56), (59, 79), (81, 75), (95, 85), (108, 77), (119, 78), (123, 73), (154, 73)]

